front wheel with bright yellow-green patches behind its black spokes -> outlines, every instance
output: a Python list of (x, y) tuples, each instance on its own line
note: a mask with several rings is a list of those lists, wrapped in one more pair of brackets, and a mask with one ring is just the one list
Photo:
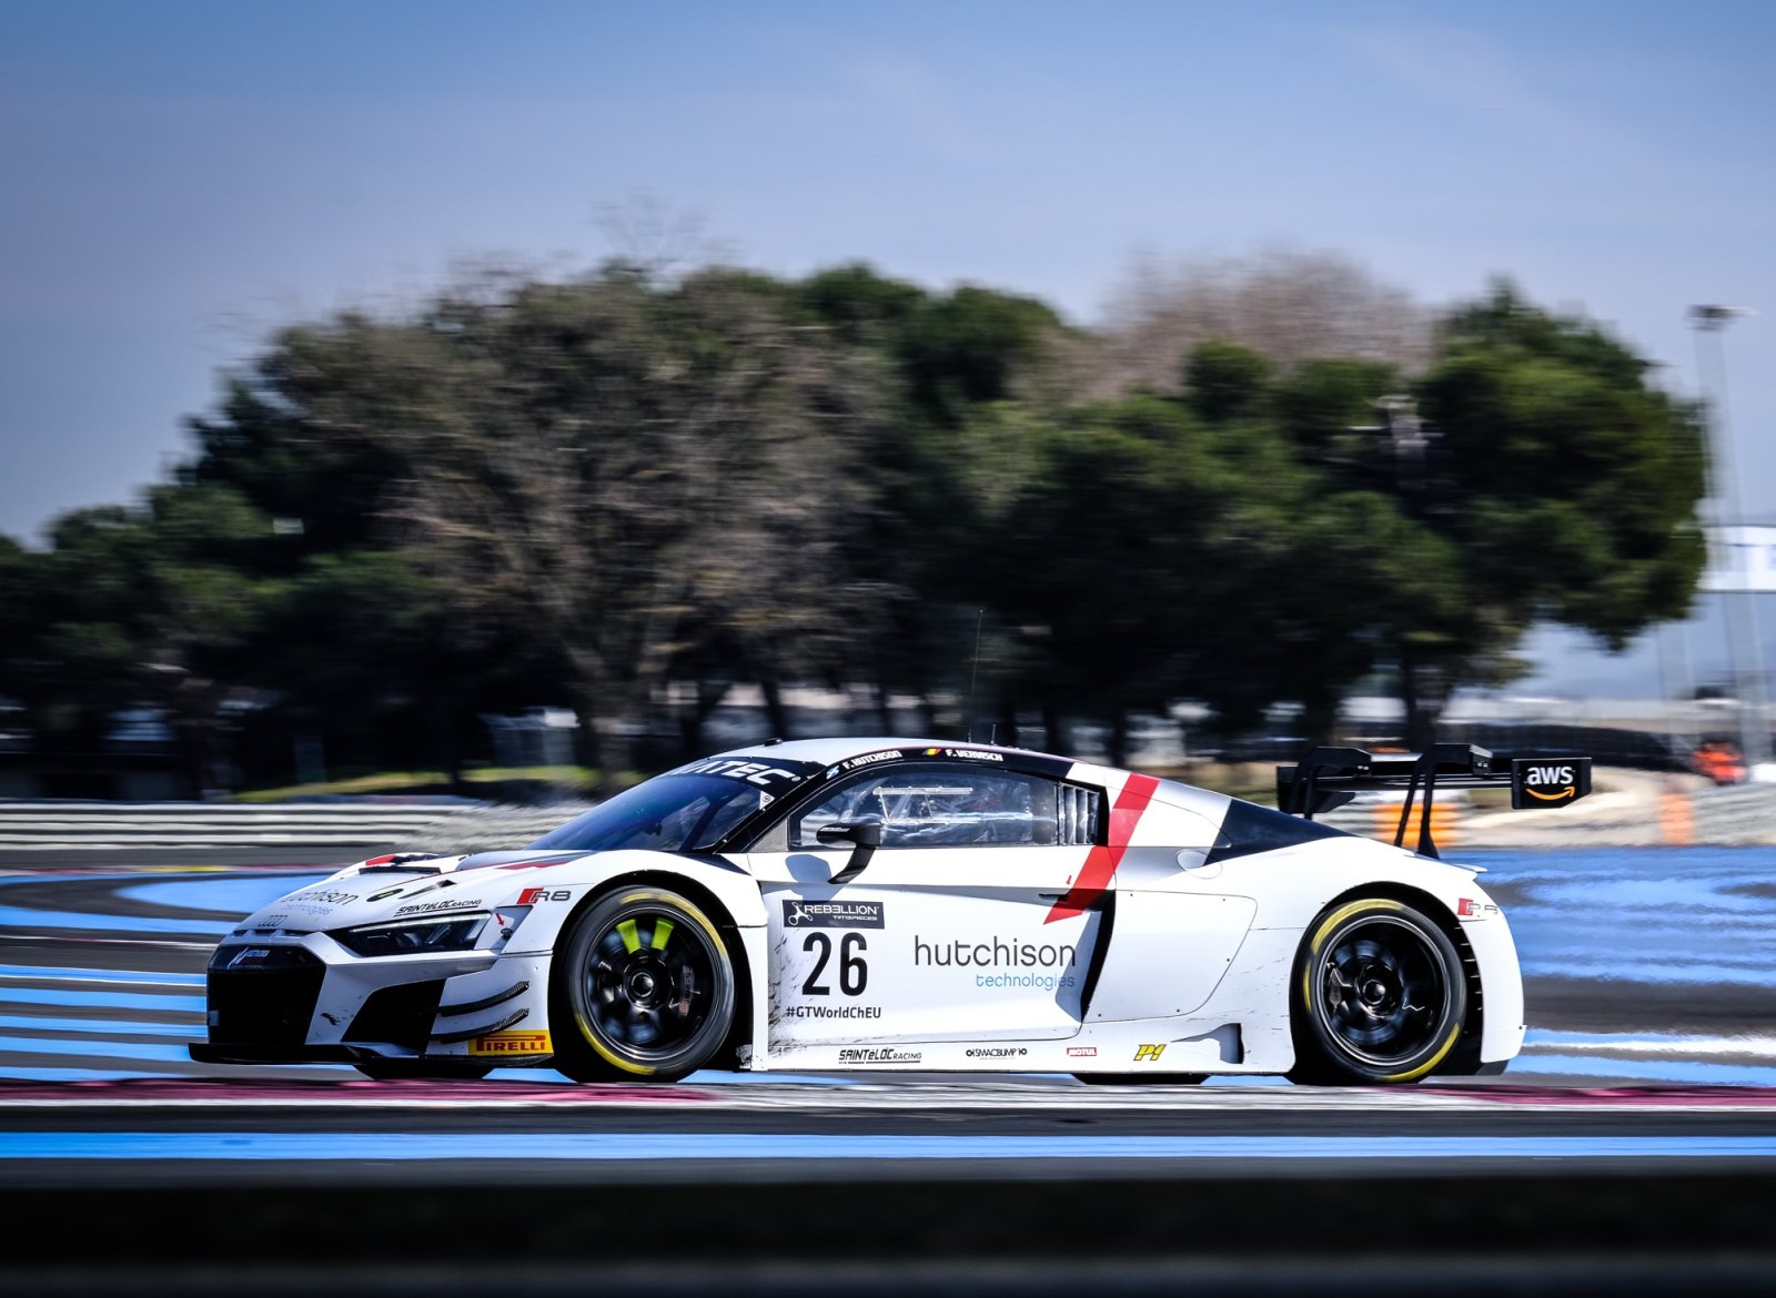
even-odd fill
[(574, 1081), (677, 1081), (721, 1049), (733, 1001), (733, 957), (703, 909), (664, 888), (622, 888), (559, 946), (554, 1067)]

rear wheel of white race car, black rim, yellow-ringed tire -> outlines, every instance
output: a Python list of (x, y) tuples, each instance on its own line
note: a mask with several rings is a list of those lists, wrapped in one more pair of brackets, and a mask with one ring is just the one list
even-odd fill
[(1364, 897), (1309, 925), (1289, 1001), (1291, 1081), (1417, 1081), (1462, 1039), (1467, 975), (1435, 920), (1405, 902)]

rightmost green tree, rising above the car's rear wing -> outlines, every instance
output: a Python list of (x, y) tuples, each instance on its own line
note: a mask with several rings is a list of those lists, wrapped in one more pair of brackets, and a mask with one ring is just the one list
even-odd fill
[(1451, 687), (1511, 673), (1510, 650), (1538, 620), (1618, 650), (1687, 613), (1705, 561), (1705, 430), (1648, 371), (1597, 325), (1508, 284), (1444, 321), (1417, 389), (1435, 440), (1408, 504), (1455, 558), (1447, 581), (1467, 613), (1389, 620), (1421, 742)]

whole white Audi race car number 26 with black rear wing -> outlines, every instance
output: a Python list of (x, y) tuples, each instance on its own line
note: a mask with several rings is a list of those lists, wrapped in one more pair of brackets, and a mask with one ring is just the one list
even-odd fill
[[(190, 1051), (581, 1081), (1494, 1072), (1524, 1037), (1517, 952), (1476, 870), (1435, 859), (1433, 790), (1590, 792), (1588, 758), (1499, 765), (1314, 749), (1270, 810), (979, 744), (746, 748), (524, 851), (382, 856), (266, 906), (217, 946)], [(1389, 785), (1394, 845), (1312, 819)]]

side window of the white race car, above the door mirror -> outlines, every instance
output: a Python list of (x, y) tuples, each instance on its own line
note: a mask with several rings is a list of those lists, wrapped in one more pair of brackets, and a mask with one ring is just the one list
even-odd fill
[(906, 764), (874, 771), (803, 808), (790, 849), (821, 847), (822, 826), (874, 817), (883, 847), (1083, 845), (1098, 840), (1099, 794), (1016, 771)]

